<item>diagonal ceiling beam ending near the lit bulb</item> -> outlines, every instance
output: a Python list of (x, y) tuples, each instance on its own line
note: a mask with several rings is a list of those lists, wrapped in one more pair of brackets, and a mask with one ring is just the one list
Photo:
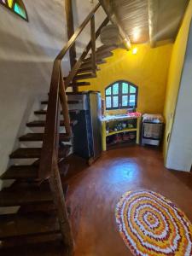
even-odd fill
[(122, 24), (120, 23), (118, 17), (113, 12), (112, 3), (109, 3), (108, 0), (99, 0), (102, 4), (102, 8), (108, 15), (109, 20), (119, 28), (120, 38), (122, 38), (123, 43), (125, 44), (126, 49), (131, 49), (131, 40), (128, 35), (125, 33)]

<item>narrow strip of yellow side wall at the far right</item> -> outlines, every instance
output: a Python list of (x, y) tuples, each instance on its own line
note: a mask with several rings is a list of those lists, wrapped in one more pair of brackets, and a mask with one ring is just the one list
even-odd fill
[(172, 59), (168, 75), (168, 83), (166, 88), (166, 101), (164, 115), (166, 118), (166, 132), (164, 141), (164, 156), (166, 159), (168, 142), (167, 137), (172, 131), (172, 123), (174, 119), (175, 107), (177, 103), (177, 94), (179, 90), (181, 75), (183, 71), (183, 62), (186, 52), (186, 46), (189, 37), (189, 26), (192, 17), (192, 1), (183, 19), (183, 24), (178, 32), (177, 39), (172, 49)]

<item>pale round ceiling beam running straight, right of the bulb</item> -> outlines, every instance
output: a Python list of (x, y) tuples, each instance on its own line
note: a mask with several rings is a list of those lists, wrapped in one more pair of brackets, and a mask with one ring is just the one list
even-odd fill
[(155, 47), (158, 38), (159, 0), (148, 0), (148, 29), (151, 47)]

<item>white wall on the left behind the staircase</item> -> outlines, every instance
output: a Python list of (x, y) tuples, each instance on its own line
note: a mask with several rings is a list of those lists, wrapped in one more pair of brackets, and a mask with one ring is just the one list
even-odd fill
[[(86, 0), (75, 2), (78, 26), (93, 6)], [(67, 42), (63, 0), (24, 3), (29, 22), (0, 5), (0, 174), (6, 171), (9, 154), (18, 147), (17, 138), (25, 133), (26, 121), (37, 108), (34, 103), (47, 96), (53, 61)], [(89, 34), (90, 30), (79, 43), (87, 44)], [(67, 75), (68, 55), (62, 66)]]

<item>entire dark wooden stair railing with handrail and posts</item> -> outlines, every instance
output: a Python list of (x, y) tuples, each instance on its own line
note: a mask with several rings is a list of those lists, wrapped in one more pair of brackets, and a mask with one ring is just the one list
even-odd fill
[[(68, 0), (70, 2), (70, 0)], [(72, 1), (72, 0), (71, 0)], [(69, 3), (68, 2), (68, 3)], [(60, 102), (62, 108), (62, 114), (64, 118), (64, 125), (66, 128), (66, 134), (72, 135), (70, 118), (67, 104), (66, 89), (67, 86), (73, 81), (74, 75), (78, 72), (81, 63), (84, 61), (85, 56), (92, 50), (92, 64), (93, 72), (96, 73), (96, 38), (98, 38), (102, 27), (108, 24), (108, 17), (102, 22), (97, 31), (95, 31), (95, 13), (100, 7), (100, 3), (96, 4), (96, 7), (85, 18), (84, 22), (73, 33), (73, 36), (69, 39), (66, 46), (61, 49), (59, 55), (56, 56), (54, 61), (54, 67), (51, 76), (51, 83), (49, 89), (49, 102), (46, 116), (46, 124), (44, 131), (44, 141), (41, 151), (40, 166), (38, 177), (41, 181), (49, 180), (49, 186), (53, 194), (53, 200), (57, 209), (59, 218), (59, 224), (61, 227), (61, 235), (64, 244), (67, 247), (67, 256), (73, 256), (74, 243), (73, 232), (71, 224), (67, 214), (67, 205), (65, 196), (63, 193), (60, 171), (58, 166), (58, 153), (59, 153), (59, 131), (60, 131)], [(70, 7), (71, 8), (71, 7)], [(61, 60), (66, 55), (67, 50), (71, 49), (75, 44), (79, 34), (84, 30), (84, 27), (90, 22), (91, 40), (87, 47), (84, 49), (79, 61), (73, 66), (72, 73), (70, 73), (67, 81), (64, 82), (61, 72)]]

